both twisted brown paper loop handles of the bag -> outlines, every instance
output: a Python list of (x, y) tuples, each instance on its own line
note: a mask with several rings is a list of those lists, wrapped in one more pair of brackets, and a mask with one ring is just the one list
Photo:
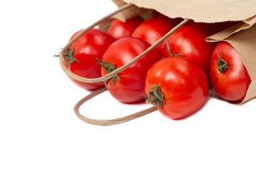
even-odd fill
[[(73, 72), (70, 72), (70, 70), (67, 69), (67, 67), (65, 67), (64, 64), (64, 60), (63, 60), (63, 56), (64, 56), (64, 52), (66, 50), (68, 50), (68, 48), (70, 47), (70, 45), (73, 44), (73, 42), (75, 42), (75, 40), (78, 40), (78, 38), (80, 38), (83, 34), (85, 34), (88, 30), (95, 28), (95, 26), (99, 25), (100, 23), (102, 23), (103, 21), (111, 18), (112, 16), (114, 16), (115, 14), (124, 11), (127, 8), (130, 8), (134, 6), (133, 4), (126, 4), (122, 7), (120, 7), (119, 9), (117, 9), (117, 11), (114, 11), (112, 13), (110, 13), (109, 15), (101, 18), (99, 21), (93, 23), (91, 26), (85, 28), (84, 30), (82, 30), (80, 33), (78, 33), (78, 35), (75, 36), (75, 38), (73, 38), (72, 40), (70, 40), (70, 42), (68, 42), (67, 45), (65, 45), (65, 47), (63, 48), (63, 50), (61, 50), (60, 52), (60, 66), (62, 67), (63, 71), (68, 74), (69, 77), (72, 77), (73, 79), (76, 79), (78, 81), (82, 81), (85, 83), (97, 83), (100, 81), (105, 81), (107, 79), (110, 79), (111, 77), (113, 77), (114, 75), (117, 75), (119, 72), (122, 72), (124, 69), (127, 69), (127, 67), (131, 66), (132, 64), (134, 64), (135, 62), (137, 62), (138, 60), (140, 60), (142, 57), (144, 57), (144, 55), (146, 55), (147, 53), (149, 53), (152, 49), (154, 49), (154, 47), (156, 47), (157, 45), (159, 45), (161, 42), (163, 42), (166, 38), (168, 38), (172, 33), (174, 33), (176, 30), (178, 30), (178, 28), (180, 28), (181, 26), (185, 25), (186, 23), (188, 23), (188, 21), (190, 21), (189, 19), (184, 19), (181, 23), (179, 23), (176, 27), (174, 27), (173, 29), (171, 29), (168, 33), (166, 33), (166, 35), (164, 35), (163, 37), (161, 37), (159, 40), (157, 40), (153, 45), (151, 45), (148, 49), (146, 49), (144, 52), (142, 52), (140, 55), (138, 55), (137, 57), (135, 57), (133, 60), (131, 60), (130, 62), (128, 62), (127, 64), (125, 64), (122, 67), (119, 67), (118, 69), (115, 69), (113, 72), (110, 72), (109, 74), (106, 74), (103, 77), (99, 77), (99, 78), (94, 78), (94, 79), (87, 79), (85, 77), (80, 77), (76, 74), (73, 74)], [(116, 119), (111, 119), (111, 120), (96, 120), (96, 119), (90, 119), (90, 118), (86, 118), (85, 116), (81, 115), (79, 112), (79, 108), (80, 106), (85, 103), (86, 101), (90, 100), (90, 98), (93, 98), (95, 96), (97, 96), (97, 94), (101, 94), (103, 91), (107, 90), (106, 88), (102, 88), (102, 89), (97, 89), (95, 91), (92, 91), (91, 94), (89, 94), (88, 96), (85, 96), (85, 98), (82, 98), (74, 107), (74, 111), (75, 114), (78, 115), (78, 118), (80, 118), (81, 120), (85, 121), (86, 123), (90, 123), (93, 125), (114, 125), (117, 123), (123, 123), (126, 122), (128, 120), (132, 120), (134, 118), (139, 118), (142, 115), (146, 115), (148, 113), (151, 113), (153, 111), (156, 111), (156, 107), (153, 106), (151, 108), (147, 108), (143, 111), (139, 111), (137, 113), (133, 113), (132, 115), (127, 115), (124, 116), (122, 118), (116, 118)]]

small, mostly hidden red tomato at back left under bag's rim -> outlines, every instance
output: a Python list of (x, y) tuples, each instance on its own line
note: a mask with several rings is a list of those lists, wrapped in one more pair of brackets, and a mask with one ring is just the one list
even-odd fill
[(130, 18), (125, 22), (113, 18), (110, 21), (110, 27), (107, 29), (107, 33), (117, 40), (124, 37), (131, 37), (135, 28), (137, 28), (137, 26), (139, 26), (143, 21), (144, 20), (139, 16)]

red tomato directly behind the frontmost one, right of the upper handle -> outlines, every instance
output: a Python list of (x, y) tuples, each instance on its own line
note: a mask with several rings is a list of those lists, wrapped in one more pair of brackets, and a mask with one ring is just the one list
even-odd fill
[[(210, 57), (215, 43), (206, 42), (208, 34), (194, 26), (182, 26), (167, 38), (173, 54), (181, 54), (198, 64), (210, 78)], [(161, 55), (169, 57), (169, 52), (164, 41)]]

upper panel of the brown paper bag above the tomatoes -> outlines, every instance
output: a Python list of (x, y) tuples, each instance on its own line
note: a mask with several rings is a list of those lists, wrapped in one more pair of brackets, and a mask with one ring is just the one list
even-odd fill
[[(256, 23), (256, 1), (240, 0), (112, 0), (117, 6), (126, 3), (134, 4), (140, 8), (154, 9), (170, 18), (190, 18), (196, 22), (218, 23), (223, 21), (244, 21), (245, 28)], [(135, 8), (135, 7), (134, 7)], [(122, 13), (122, 19), (136, 16), (134, 8)], [(119, 14), (121, 16), (121, 14)]]

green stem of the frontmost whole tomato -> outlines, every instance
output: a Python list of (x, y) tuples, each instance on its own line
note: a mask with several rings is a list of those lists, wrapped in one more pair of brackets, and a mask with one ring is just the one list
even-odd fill
[(146, 103), (154, 104), (156, 107), (161, 108), (162, 103), (164, 101), (164, 95), (161, 94), (161, 90), (159, 86), (152, 86), (149, 90), (149, 94), (147, 96), (144, 95), (146, 98)]

